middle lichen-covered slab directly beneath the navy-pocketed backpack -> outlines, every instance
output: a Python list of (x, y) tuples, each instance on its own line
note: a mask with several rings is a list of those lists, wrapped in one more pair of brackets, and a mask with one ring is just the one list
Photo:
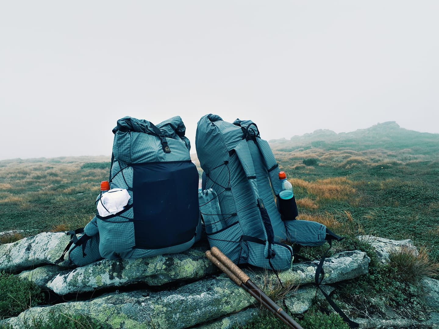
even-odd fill
[(54, 275), (46, 286), (55, 293), (64, 295), (134, 283), (160, 286), (173, 281), (197, 280), (218, 272), (204, 252), (204, 247), (192, 247), (179, 254), (137, 259), (104, 259)]

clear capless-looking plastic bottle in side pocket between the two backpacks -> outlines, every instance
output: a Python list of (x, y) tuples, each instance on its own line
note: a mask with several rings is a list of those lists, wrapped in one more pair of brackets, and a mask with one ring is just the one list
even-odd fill
[(206, 233), (214, 233), (226, 227), (221, 209), (219, 208), (218, 195), (215, 190), (208, 189), (198, 192), (198, 205), (203, 216)]

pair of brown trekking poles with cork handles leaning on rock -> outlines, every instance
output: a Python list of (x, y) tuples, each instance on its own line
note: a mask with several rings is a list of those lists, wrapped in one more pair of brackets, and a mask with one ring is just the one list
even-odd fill
[(249, 276), (246, 275), (241, 268), (237, 267), (230, 259), (224, 255), (217, 247), (212, 247), (206, 251), (206, 256), (212, 263), (218, 266), (229, 278), (238, 286), (241, 286), (246, 292), (267, 308), (274, 316), (279, 318), (291, 329), (303, 329), (301, 325), (295, 322), (281, 307), (270, 299), (262, 290), (256, 286)]

